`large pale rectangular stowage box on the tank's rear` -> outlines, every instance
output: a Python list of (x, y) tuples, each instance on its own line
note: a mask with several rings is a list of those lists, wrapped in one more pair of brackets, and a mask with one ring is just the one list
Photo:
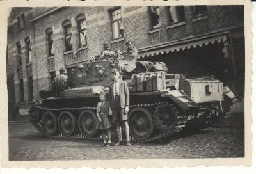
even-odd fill
[(218, 80), (179, 79), (179, 90), (196, 103), (223, 101), (223, 84)]

